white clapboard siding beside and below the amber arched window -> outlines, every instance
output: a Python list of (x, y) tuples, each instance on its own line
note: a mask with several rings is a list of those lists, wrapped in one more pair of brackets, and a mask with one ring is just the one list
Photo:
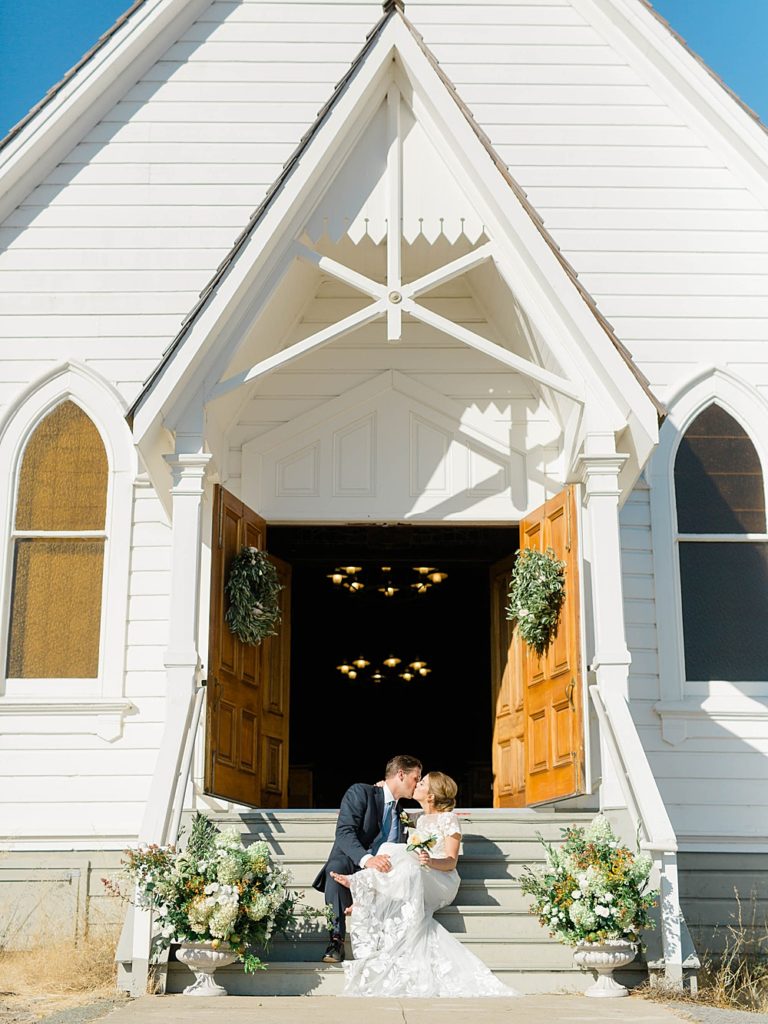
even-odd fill
[[(17, 841), (68, 837), (75, 846), (87, 847), (96, 837), (122, 841), (138, 830), (165, 721), (168, 644), (169, 573), (160, 564), (168, 561), (170, 529), (148, 486), (136, 488), (130, 540), (123, 695), (133, 711), (124, 719), (122, 734), (111, 741), (93, 732), (67, 732), (50, 716), (46, 721), (13, 716), (4, 723), (0, 820), (3, 834)], [(52, 792), (56, 804), (49, 813)], [(108, 803), (113, 807), (104, 811)], [(37, 818), (31, 808), (38, 810)]]

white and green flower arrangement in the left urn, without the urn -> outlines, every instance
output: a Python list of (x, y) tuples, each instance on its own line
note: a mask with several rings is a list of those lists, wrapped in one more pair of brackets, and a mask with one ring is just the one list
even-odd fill
[(120, 874), (102, 881), (113, 894), (155, 911), (156, 951), (171, 942), (210, 941), (214, 949), (228, 946), (247, 972), (266, 966), (252, 947), (267, 946), (274, 932), (314, 914), (299, 906), (289, 872), (272, 863), (266, 843), (246, 847), (236, 828), (220, 831), (202, 814), (184, 850), (127, 850)]

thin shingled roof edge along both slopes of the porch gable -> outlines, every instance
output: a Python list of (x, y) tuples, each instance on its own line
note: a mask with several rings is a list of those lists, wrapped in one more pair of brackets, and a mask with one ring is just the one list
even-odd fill
[(650, 385), (648, 383), (647, 378), (643, 375), (643, 373), (640, 371), (640, 369), (634, 362), (634, 360), (633, 360), (633, 358), (632, 358), (629, 350), (626, 348), (626, 346), (618, 340), (618, 338), (616, 337), (616, 335), (615, 335), (612, 327), (610, 326), (610, 324), (608, 323), (608, 321), (603, 316), (603, 314), (598, 309), (595, 300), (592, 298), (592, 296), (587, 292), (587, 290), (584, 288), (584, 286), (582, 285), (582, 283), (579, 281), (579, 276), (578, 276), (575, 270), (570, 265), (570, 263), (568, 263), (568, 261), (565, 259), (565, 257), (562, 255), (562, 253), (560, 252), (560, 249), (557, 246), (557, 244), (555, 243), (554, 239), (552, 238), (552, 236), (549, 233), (549, 231), (544, 226), (544, 222), (543, 222), (542, 218), (539, 216), (539, 214), (537, 213), (537, 211), (531, 206), (530, 202), (528, 201), (527, 195), (520, 187), (520, 185), (515, 180), (515, 178), (512, 176), (512, 174), (509, 171), (509, 168), (507, 167), (507, 165), (504, 163), (504, 161), (501, 159), (501, 157), (498, 155), (498, 153), (494, 148), (494, 146), (493, 146), (493, 144), (490, 142), (490, 139), (482, 131), (482, 129), (479, 127), (479, 125), (475, 121), (475, 119), (474, 119), (471, 111), (469, 110), (469, 108), (467, 106), (467, 104), (459, 96), (459, 93), (458, 93), (458, 91), (456, 89), (456, 86), (449, 79), (449, 77), (444, 73), (444, 71), (440, 68), (437, 59), (434, 56), (434, 54), (431, 52), (431, 50), (429, 49), (429, 47), (425, 43), (424, 38), (416, 30), (416, 28), (409, 20), (409, 18), (406, 17), (406, 14), (404, 14), (404, 11), (403, 11), (403, 6), (404, 5), (401, 2), (401, 0), (385, 0), (385, 3), (384, 3), (384, 14), (383, 14), (383, 16), (380, 18), (380, 20), (375, 26), (375, 28), (371, 31), (371, 33), (367, 36), (365, 45), (362, 46), (361, 50), (359, 51), (359, 53), (357, 54), (357, 56), (355, 57), (355, 59), (352, 61), (352, 63), (350, 66), (349, 70), (347, 71), (346, 75), (336, 85), (336, 87), (335, 87), (335, 89), (333, 91), (333, 94), (331, 95), (331, 97), (329, 98), (329, 100), (326, 102), (325, 106), (321, 110), (321, 112), (319, 112), (317, 118), (315, 119), (313, 125), (306, 132), (306, 134), (303, 136), (303, 138), (299, 142), (299, 144), (296, 147), (296, 150), (294, 151), (294, 153), (291, 155), (290, 159), (288, 160), (288, 162), (286, 163), (285, 167), (283, 168), (283, 171), (282, 171), (281, 175), (272, 183), (272, 185), (269, 188), (267, 195), (264, 197), (264, 200), (260, 204), (260, 206), (256, 209), (256, 211), (253, 213), (253, 215), (251, 216), (248, 224), (246, 225), (246, 227), (244, 228), (244, 230), (241, 232), (241, 234), (236, 240), (232, 248), (229, 250), (229, 252), (227, 253), (227, 255), (225, 256), (225, 258), (219, 264), (219, 266), (216, 269), (216, 272), (214, 273), (213, 278), (210, 280), (210, 282), (208, 283), (208, 285), (206, 286), (206, 288), (201, 293), (198, 302), (196, 303), (196, 305), (194, 306), (194, 308), (190, 310), (190, 312), (188, 313), (188, 315), (185, 317), (185, 319), (184, 319), (183, 324), (181, 325), (181, 328), (180, 328), (178, 334), (176, 335), (176, 337), (173, 339), (173, 341), (171, 342), (171, 344), (168, 346), (168, 348), (166, 349), (166, 351), (163, 353), (163, 356), (162, 356), (160, 362), (155, 368), (155, 370), (153, 371), (153, 373), (151, 374), (151, 376), (147, 378), (147, 380), (144, 382), (144, 385), (143, 385), (143, 387), (142, 387), (139, 395), (137, 396), (137, 398), (135, 399), (135, 401), (131, 406), (131, 409), (129, 410), (127, 418), (128, 418), (128, 422), (130, 424), (133, 423), (133, 418), (134, 418), (136, 412), (142, 406), (142, 403), (145, 401), (147, 395), (152, 392), (154, 385), (159, 380), (159, 378), (163, 375), (163, 373), (165, 372), (165, 369), (167, 368), (167, 366), (169, 365), (169, 362), (172, 360), (174, 353), (178, 350), (178, 348), (180, 347), (180, 345), (183, 343), (184, 338), (187, 336), (187, 334), (189, 333), (190, 329), (195, 325), (196, 321), (198, 319), (198, 317), (200, 316), (200, 314), (202, 313), (202, 311), (207, 306), (207, 304), (208, 304), (211, 296), (216, 291), (217, 286), (225, 278), (228, 269), (230, 268), (230, 266), (234, 262), (234, 260), (237, 259), (238, 255), (242, 252), (243, 248), (245, 247), (245, 245), (247, 244), (248, 240), (253, 234), (253, 232), (256, 229), (256, 227), (258, 226), (258, 224), (263, 219), (264, 215), (266, 214), (266, 212), (268, 211), (268, 209), (270, 208), (270, 206), (274, 202), (276, 196), (280, 194), (280, 191), (282, 190), (282, 188), (285, 185), (285, 183), (292, 176), (292, 174), (295, 171), (296, 167), (298, 166), (298, 164), (299, 164), (299, 162), (300, 162), (303, 154), (305, 153), (307, 146), (312, 141), (312, 139), (314, 138), (314, 136), (317, 134), (317, 132), (319, 131), (321, 127), (326, 122), (326, 120), (328, 119), (328, 117), (331, 114), (331, 112), (334, 110), (335, 105), (338, 103), (341, 95), (344, 93), (344, 91), (346, 90), (346, 88), (349, 86), (349, 84), (355, 78), (355, 75), (356, 75), (358, 69), (364, 63), (364, 61), (366, 59), (366, 56), (368, 55), (368, 53), (371, 51), (371, 49), (375, 45), (377, 39), (383, 33), (385, 27), (389, 24), (389, 22), (392, 18), (394, 18), (394, 17), (397, 17), (397, 18), (399, 18), (402, 22), (402, 24), (406, 26), (406, 28), (408, 29), (409, 33), (413, 37), (413, 39), (416, 41), (419, 49), (424, 54), (424, 56), (426, 57), (427, 61), (429, 62), (429, 65), (433, 69), (433, 71), (436, 73), (436, 75), (440, 79), (441, 83), (444, 85), (445, 89), (447, 90), (447, 92), (450, 93), (450, 95), (452, 96), (452, 98), (454, 99), (454, 101), (455, 101), (456, 105), (458, 106), (459, 111), (461, 112), (462, 116), (464, 117), (464, 119), (466, 120), (466, 122), (471, 127), (472, 131), (474, 132), (474, 134), (476, 135), (476, 137), (478, 138), (478, 140), (482, 144), (483, 148), (486, 151), (486, 153), (490, 157), (490, 160), (493, 161), (494, 165), (499, 170), (500, 174), (503, 176), (504, 180), (507, 182), (507, 184), (509, 185), (509, 187), (512, 189), (512, 193), (514, 194), (515, 198), (520, 203), (520, 205), (523, 207), (523, 209), (525, 210), (525, 212), (528, 214), (528, 216), (529, 216), (531, 222), (534, 223), (534, 225), (536, 226), (537, 230), (539, 231), (539, 233), (541, 234), (541, 237), (544, 239), (544, 241), (546, 242), (547, 246), (551, 249), (552, 253), (557, 258), (558, 262), (560, 263), (560, 265), (562, 266), (563, 270), (565, 271), (565, 273), (570, 279), (572, 285), (574, 286), (574, 288), (577, 289), (577, 291), (581, 295), (582, 299), (584, 300), (584, 302), (589, 307), (589, 309), (590, 309), (591, 313), (593, 314), (594, 318), (597, 321), (597, 323), (599, 324), (599, 326), (602, 329), (602, 331), (610, 339), (611, 344), (616, 349), (616, 351), (621, 355), (622, 359), (629, 367), (629, 369), (631, 370), (632, 374), (636, 377), (636, 379), (637, 379), (638, 383), (640, 384), (642, 390), (645, 392), (646, 396), (649, 398), (649, 400), (651, 401), (653, 408), (655, 409), (656, 415), (657, 415), (659, 421), (665, 417), (665, 415), (666, 415), (665, 407), (658, 400), (658, 398), (653, 394), (653, 392), (652, 392), (652, 390), (650, 388)]

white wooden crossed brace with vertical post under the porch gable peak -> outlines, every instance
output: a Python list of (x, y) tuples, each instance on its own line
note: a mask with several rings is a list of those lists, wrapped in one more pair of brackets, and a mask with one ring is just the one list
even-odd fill
[(386, 317), (387, 321), (387, 340), (397, 342), (402, 335), (402, 314), (409, 313), (415, 319), (421, 321), (422, 324), (426, 324), (436, 331), (441, 331), (450, 337), (457, 338), (465, 345), (469, 345), (479, 352), (492, 356), (504, 366), (552, 388), (553, 391), (567, 395), (567, 397), (573, 398), (577, 401), (584, 401), (581, 387), (572, 381), (568, 381), (558, 374), (537, 366), (536, 362), (516, 355), (503, 345), (488, 341), (487, 338), (483, 338), (468, 328), (454, 324), (453, 321), (447, 319), (445, 316), (440, 316), (439, 313), (427, 309), (416, 301), (417, 296), (424, 292), (428, 292), (438, 285), (444, 285), (454, 278), (458, 278), (460, 274), (471, 270), (472, 267), (478, 266), (480, 263), (485, 262), (485, 260), (495, 259), (496, 257), (493, 245), (486, 243), (473, 252), (467, 253), (465, 256), (460, 256), (458, 259), (445, 263), (443, 266), (424, 274), (410, 284), (403, 284), (401, 266), (402, 140), (400, 92), (394, 83), (387, 90), (387, 137), (386, 284), (382, 285), (377, 281), (373, 281), (357, 270), (339, 263), (330, 256), (323, 256), (321, 253), (314, 252), (314, 250), (309, 249), (300, 242), (294, 243), (293, 254), (296, 257), (313, 264), (319, 270), (336, 278), (338, 281), (343, 281), (364, 295), (369, 295), (374, 301), (362, 309), (357, 310), (357, 312), (345, 316), (344, 319), (338, 321), (336, 324), (331, 324), (329, 327), (309, 335), (308, 338), (297, 341), (295, 344), (289, 345), (288, 348), (284, 348), (282, 351), (261, 359), (255, 366), (251, 367), (250, 370), (222, 381), (212, 389), (209, 393), (209, 398), (218, 398), (240, 387), (242, 384), (247, 384), (249, 381), (256, 380), (256, 378), (285, 366), (285, 364), (290, 362), (292, 359), (303, 355), (313, 348), (318, 348), (330, 341), (342, 338), (351, 331), (356, 331), (357, 328), (382, 317)]

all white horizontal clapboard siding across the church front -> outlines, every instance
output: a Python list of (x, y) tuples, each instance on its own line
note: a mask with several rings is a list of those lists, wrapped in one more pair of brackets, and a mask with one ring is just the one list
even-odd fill
[[(568, 0), (410, 0), (408, 15), (659, 395), (715, 361), (768, 394), (768, 216), (685, 112)], [(0, 410), (65, 358), (136, 396), (380, 16), (378, 0), (214, 0), (73, 145), (0, 225)], [(466, 296), (434, 303), (493, 336)], [(303, 333), (358, 307), (327, 290)], [(388, 369), (508, 425), (516, 442), (539, 446), (542, 465), (554, 461), (551, 418), (524, 378), (406, 321), (401, 345), (371, 326), (260, 383), (229, 435), (231, 474), (246, 439)], [(41, 787), (40, 803), (19, 799), (12, 816), (0, 804), (15, 835), (135, 835), (162, 735), (169, 540), (160, 502), (138, 488), (125, 695), (139, 714), (122, 736), (0, 734), (13, 774)], [(748, 787), (752, 812), (739, 794), (765, 780), (761, 722), (738, 736), (713, 724), (712, 736), (674, 749), (662, 737), (642, 487), (622, 513), (622, 551), (633, 714), (675, 827), (701, 833), (719, 778), (718, 827), (764, 831), (760, 790)], [(60, 765), (41, 760), (51, 751), (67, 751), (67, 799), (55, 803)], [(96, 777), (137, 781), (96, 800)]]

